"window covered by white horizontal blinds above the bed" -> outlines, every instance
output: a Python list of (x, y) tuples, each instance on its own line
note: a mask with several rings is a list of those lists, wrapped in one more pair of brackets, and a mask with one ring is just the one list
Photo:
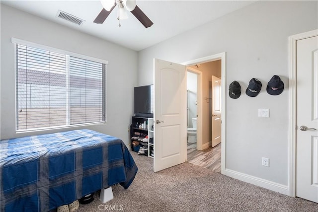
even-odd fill
[(104, 122), (105, 83), (105, 63), (16, 44), (17, 131)]

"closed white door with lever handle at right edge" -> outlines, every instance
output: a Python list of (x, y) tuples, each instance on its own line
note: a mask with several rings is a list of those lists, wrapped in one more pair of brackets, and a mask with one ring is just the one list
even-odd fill
[(296, 45), (296, 196), (318, 203), (318, 36)]

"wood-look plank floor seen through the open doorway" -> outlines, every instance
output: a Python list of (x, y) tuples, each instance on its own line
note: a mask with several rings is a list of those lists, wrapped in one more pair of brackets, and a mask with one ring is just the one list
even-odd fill
[(196, 143), (187, 142), (187, 162), (221, 173), (221, 143), (200, 151)]

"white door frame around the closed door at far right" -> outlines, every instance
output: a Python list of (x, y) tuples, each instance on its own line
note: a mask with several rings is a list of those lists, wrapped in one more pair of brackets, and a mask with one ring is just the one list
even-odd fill
[(289, 137), (288, 137), (288, 194), (296, 197), (296, 42), (318, 35), (318, 29), (289, 36)]

